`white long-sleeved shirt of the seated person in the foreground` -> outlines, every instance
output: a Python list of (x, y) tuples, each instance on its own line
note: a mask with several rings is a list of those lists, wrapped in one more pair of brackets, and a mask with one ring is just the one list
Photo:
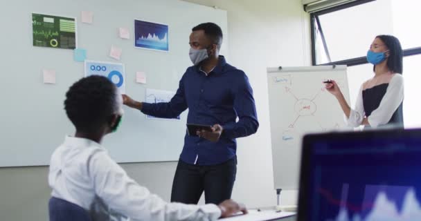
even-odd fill
[(91, 140), (66, 137), (51, 156), (51, 195), (89, 210), (95, 198), (133, 220), (217, 220), (215, 204), (168, 203), (132, 180)]

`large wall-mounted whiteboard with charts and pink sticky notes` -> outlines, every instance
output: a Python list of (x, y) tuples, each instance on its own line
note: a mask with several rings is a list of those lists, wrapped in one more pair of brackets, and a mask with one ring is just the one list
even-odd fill
[[(93, 12), (93, 23), (82, 23), (81, 12)], [(145, 100), (146, 89), (175, 92), (191, 66), (188, 37), (192, 27), (217, 23), (224, 32), (221, 54), (227, 55), (226, 11), (178, 0), (15, 0), (0, 7), (2, 82), (0, 166), (47, 165), (54, 149), (74, 128), (64, 112), (69, 86), (84, 76), (84, 63), (73, 60), (73, 50), (33, 46), (32, 12), (75, 17), (77, 46), (87, 59), (125, 66), (127, 95)], [(134, 19), (168, 25), (168, 52), (134, 47)], [(128, 28), (130, 39), (118, 36)], [(6, 34), (7, 32), (7, 34)], [(123, 50), (120, 61), (109, 57), (111, 45)], [(43, 84), (43, 68), (55, 70), (56, 84)], [(146, 73), (146, 84), (135, 81)], [(187, 111), (179, 120), (147, 119), (125, 107), (117, 133), (102, 144), (117, 162), (157, 162), (179, 159), (186, 133)]]

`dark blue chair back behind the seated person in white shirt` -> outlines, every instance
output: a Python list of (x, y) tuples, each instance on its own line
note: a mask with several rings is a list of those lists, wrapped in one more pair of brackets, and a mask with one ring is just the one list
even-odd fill
[(88, 211), (81, 206), (52, 197), (48, 202), (50, 221), (91, 221)]

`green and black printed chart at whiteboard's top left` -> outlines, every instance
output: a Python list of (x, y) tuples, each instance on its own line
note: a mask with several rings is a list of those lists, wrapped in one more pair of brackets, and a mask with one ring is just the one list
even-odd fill
[(76, 48), (76, 19), (32, 14), (33, 46)]

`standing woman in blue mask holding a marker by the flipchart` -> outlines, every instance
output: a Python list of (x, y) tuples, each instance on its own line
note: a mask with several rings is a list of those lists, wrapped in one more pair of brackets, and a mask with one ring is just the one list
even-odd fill
[(355, 109), (350, 108), (335, 81), (325, 84), (326, 89), (338, 99), (348, 125), (373, 128), (385, 124), (403, 126), (402, 57), (402, 47), (396, 37), (375, 37), (367, 52), (367, 61), (374, 65), (375, 75), (361, 85)]

